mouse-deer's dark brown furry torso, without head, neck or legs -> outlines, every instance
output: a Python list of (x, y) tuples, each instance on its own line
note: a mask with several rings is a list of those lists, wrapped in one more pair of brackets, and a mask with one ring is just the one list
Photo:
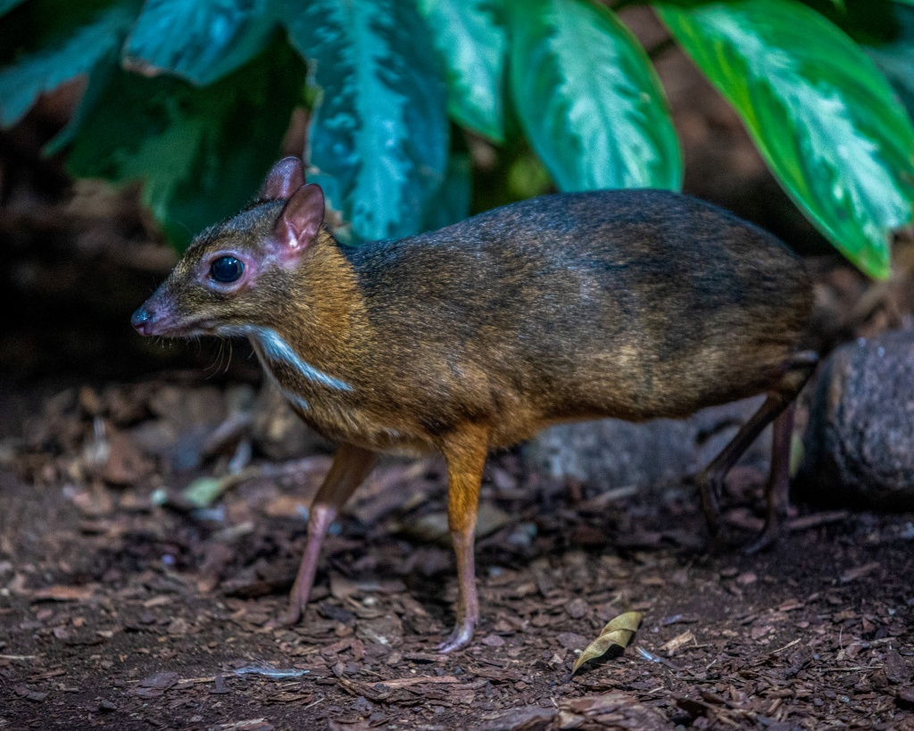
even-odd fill
[(812, 307), (776, 238), (660, 191), (545, 196), (344, 253), (384, 398), (432, 433), (494, 419), (500, 444), (765, 390)]

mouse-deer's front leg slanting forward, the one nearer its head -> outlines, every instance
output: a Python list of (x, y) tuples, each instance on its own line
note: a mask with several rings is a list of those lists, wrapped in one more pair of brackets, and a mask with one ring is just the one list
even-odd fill
[(298, 567), (298, 576), (289, 596), (289, 611), (282, 624), (294, 624), (302, 617), (308, 604), (314, 577), (317, 574), (317, 561), (321, 556), (321, 546), (327, 528), (345, 505), (352, 493), (375, 466), (377, 453), (354, 447), (351, 444), (340, 444), (336, 450), (334, 463), (324, 478), (324, 484), (314, 496), (311, 511), (308, 515), (308, 542), (304, 546), (302, 563)]

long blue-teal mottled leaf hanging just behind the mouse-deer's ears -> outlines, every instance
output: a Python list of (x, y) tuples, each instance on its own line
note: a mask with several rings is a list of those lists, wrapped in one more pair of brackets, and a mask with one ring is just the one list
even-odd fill
[(286, 14), (323, 90), (309, 132), (309, 179), (356, 238), (414, 234), (447, 164), (447, 89), (412, 3), (314, 0)]

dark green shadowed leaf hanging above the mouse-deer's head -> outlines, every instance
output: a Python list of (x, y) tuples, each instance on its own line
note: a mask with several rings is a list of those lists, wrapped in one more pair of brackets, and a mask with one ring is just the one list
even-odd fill
[(285, 43), (198, 88), (120, 69), (97, 94), (69, 155), (69, 171), (116, 184), (143, 182), (143, 203), (175, 244), (253, 196), (280, 152), (304, 67)]

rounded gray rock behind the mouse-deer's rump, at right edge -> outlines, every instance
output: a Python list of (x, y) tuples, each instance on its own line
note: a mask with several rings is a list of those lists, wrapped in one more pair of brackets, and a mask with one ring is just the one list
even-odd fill
[(798, 493), (818, 503), (914, 510), (914, 333), (845, 344), (816, 381)]

